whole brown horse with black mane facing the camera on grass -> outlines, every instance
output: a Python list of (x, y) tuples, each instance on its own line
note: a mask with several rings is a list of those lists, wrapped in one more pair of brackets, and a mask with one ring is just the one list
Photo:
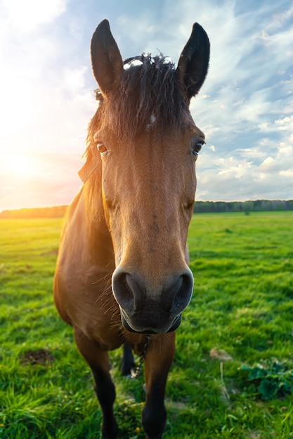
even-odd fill
[(103, 438), (117, 438), (108, 351), (145, 355), (143, 428), (162, 438), (164, 392), (175, 332), (193, 293), (186, 238), (195, 200), (195, 160), (204, 134), (190, 98), (204, 82), (209, 39), (200, 25), (178, 67), (162, 54), (122, 61), (107, 20), (91, 40), (99, 101), (89, 123), (84, 185), (60, 242), (54, 299), (91, 367), (103, 411)]

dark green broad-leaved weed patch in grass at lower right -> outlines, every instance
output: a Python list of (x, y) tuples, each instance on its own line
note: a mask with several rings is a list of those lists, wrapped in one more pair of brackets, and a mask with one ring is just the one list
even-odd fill
[(270, 360), (263, 364), (253, 366), (242, 365), (239, 370), (243, 372), (248, 381), (245, 394), (253, 394), (256, 398), (272, 400), (283, 398), (293, 390), (293, 370), (285, 362)]

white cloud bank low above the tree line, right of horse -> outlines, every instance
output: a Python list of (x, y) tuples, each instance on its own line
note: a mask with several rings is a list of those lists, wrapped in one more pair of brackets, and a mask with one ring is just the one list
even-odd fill
[(240, 158), (202, 154), (197, 167), (196, 199), (245, 201), (256, 198), (290, 198), (293, 177), (292, 144), (280, 142), (275, 148), (275, 156), (264, 155), (263, 152), (259, 164), (254, 161), (254, 152), (257, 151), (258, 149), (249, 149)]

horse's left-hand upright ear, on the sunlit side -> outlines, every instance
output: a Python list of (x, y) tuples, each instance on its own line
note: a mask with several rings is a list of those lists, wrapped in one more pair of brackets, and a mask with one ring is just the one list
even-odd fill
[(102, 95), (116, 88), (123, 60), (113, 38), (108, 20), (100, 22), (91, 38), (91, 67)]

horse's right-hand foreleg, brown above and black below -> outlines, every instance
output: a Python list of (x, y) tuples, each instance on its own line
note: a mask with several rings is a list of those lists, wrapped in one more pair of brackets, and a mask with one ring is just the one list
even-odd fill
[(164, 433), (167, 420), (164, 395), (174, 352), (175, 332), (151, 336), (145, 356), (147, 395), (143, 409), (143, 428), (148, 439), (161, 439)]

